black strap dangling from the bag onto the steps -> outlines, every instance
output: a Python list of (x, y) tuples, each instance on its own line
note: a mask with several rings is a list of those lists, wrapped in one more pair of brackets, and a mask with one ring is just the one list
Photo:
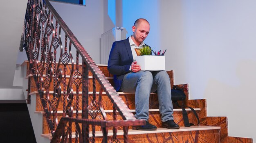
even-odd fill
[(199, 117), (198, 117), (198, 114), (195, 112), (195, 110), (192, 108), (192, 107), (189, 107), (189, 106), (185, 106), (183, 104), (183, 101), (182, 101), (182, 107), (178, 104), (177, 101), (174, 102), (178, 107), (182, 108), (182, 116), (183, 116), (183, 121), (184, 121), (184, 125), (185, 127), (190, 127), (190, 126), (194, 126), (194, 124), (192, 123), (189, 123), (189, 117), (188, 117), (188, 113), (186, 112), (186, 109), (184, 107), (188, 107), (191, 109), (191, 111), (193, 111), (195, 117), (197, 118), (198, 120), (198, 125), (200, 124), (200, 121), (199, 121)]

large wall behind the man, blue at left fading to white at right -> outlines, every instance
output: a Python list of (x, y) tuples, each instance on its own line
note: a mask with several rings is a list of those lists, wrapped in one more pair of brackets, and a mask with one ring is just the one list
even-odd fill
[[(166, 51), (175, 84), (207, 99), (208, 116), (228, 116), (229, 136), (256, 139), (256, 2), (253, 0), (123, 0), (121, 23), (131, 35), (137, 18), (150, 22), (145, 40)], [(121, 11), (121, 10), (120, 10)], [(104, 21), (104, 25), (109, 24)]]

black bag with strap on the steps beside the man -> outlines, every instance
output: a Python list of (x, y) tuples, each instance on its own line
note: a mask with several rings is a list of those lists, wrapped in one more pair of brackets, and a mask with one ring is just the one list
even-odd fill
[[(189, 123), (188, 113), (185, 110), (186, 107), (190, 108), (191, 111), (193, 111), (195, 117), (198, 119), (198, 125), (199, 125), (200, 121), (198, 118), (198, 114), (195, 112), (195, 110), (192, 107), (185, 106), (183, 103), (183, 100), (186, 99), (186, 95), (185, 95), (183, 89), (174, 85), (173, 89), (171, 89), (171, 93), (172, 93), (173, 103), (176, 104), (178, 107), (182, 108), (182, 115), (183, 115), (183, 121), (184, 121), (185, 127), (190, 127), (190, 126), (194, 125), (192, 123)], [(182, 106), (180, 106), (177, 101), (182, 101)]]

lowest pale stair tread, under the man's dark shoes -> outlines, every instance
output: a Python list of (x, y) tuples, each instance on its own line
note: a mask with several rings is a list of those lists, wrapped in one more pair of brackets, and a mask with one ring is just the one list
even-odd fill
[[(157, 130), (128, 130), (128, 134), (152, 134), (152, 133), (162, 133), (162, 132), (185, 132), (185, 131), (195, 131), (195, 130), (219, 130), (218, 126), (191, 126), (191, 127), (180, 127), (179, 130), (172, 130), (167, 128), (157, 128)], [(117, 135), (123, 135), (124, 130), (117, 130)], [(108, 136), (112, 136), (113, 131), (108, 130)], [(102, 137), (102, 131), (96, 131), (95, 137)], [(52, 134), (41, 134), (41, 137), (47, 139), (52, 139)], [(90, 132), (89, 137), (92, 137), (92, 132)], [(72, 138), (75, 138), (75, 132), (72, 132)]]

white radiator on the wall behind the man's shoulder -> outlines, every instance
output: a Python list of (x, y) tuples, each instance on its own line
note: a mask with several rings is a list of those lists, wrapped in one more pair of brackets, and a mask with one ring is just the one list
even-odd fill
[(114, 27), (101, 35), (101, 64), (108, 64), (108, 56), (115, 41), (126, 39), (126, 29)]

